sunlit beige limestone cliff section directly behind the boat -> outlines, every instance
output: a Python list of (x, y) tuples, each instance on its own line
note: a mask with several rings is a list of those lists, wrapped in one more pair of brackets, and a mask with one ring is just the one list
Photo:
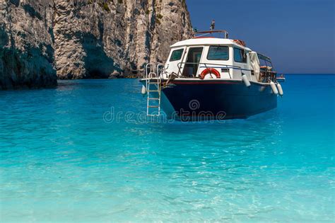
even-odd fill
[(60, 79), (131, 74), (192, 36), (184, 0), (54, 0)]

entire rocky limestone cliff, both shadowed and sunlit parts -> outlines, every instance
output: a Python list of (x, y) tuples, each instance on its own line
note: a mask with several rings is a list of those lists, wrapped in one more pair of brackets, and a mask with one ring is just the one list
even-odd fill
[(192, 35), (185, 0), (0, 0), (0, 10), (1, 88), (131, 74)]

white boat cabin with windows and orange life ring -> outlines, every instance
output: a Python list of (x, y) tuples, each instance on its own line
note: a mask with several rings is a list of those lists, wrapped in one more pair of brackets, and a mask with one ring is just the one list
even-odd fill
[[(263, 57), (271, 64), (269, 57)], [(245, 42), (241, 40), (196, 37), (171, 46), (165, 75), (175, 73), (184, 78), (241, 79), (245, 74), (250, 81), (261, 81), (261, 68), (257, 52), (245, 47)], [(266, 69), (271, 67), (266, 65)]]

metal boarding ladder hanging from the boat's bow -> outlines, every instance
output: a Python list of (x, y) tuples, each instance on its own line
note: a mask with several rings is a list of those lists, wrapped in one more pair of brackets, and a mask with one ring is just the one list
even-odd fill
[[(157, 65), (156, 72), (154, 71), (153, 64), (146, 64), (146, 115), (159, 116), (160, 115), (160, 95), (162, 90), (162, 79), (159, 75), (160, 64)], [(154, 88), (153, 88), (154, 86)], [(155, 94), (155, 96), (152, 96)], [(156, 103), (153, 103), (156, 102)], [(156, 109), (155, 111), (152, 111)]]

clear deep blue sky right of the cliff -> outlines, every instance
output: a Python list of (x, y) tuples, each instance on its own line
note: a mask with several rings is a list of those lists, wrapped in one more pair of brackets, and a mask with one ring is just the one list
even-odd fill
[(334, 0), (187, 0), (192, 25), (225, 29), (278, 72), (335, 74)]

